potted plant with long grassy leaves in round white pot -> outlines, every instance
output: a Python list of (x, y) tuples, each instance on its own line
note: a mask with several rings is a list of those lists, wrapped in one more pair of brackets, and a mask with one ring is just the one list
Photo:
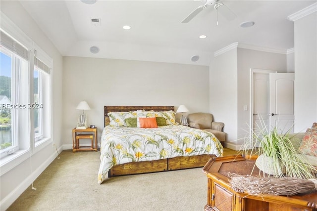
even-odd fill
[[(315, 178), (316, 169), (299, 156), (292, 138), (289, 132), (282, 134), (277, 127), (269, 132), (266, 128), (259, 132), (252, 131), (252, 138), (244, 144), (249, 147), (244, 147), (243, 153), (257, 155), (256, 166), (274, 177)], [(257, 144), (254, 145), (254, 142)]]

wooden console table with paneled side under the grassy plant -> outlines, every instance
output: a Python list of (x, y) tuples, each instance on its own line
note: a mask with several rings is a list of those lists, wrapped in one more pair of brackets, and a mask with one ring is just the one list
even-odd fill
[[(208, 178), (208, 198), (205, 211), (317, 211), (317, 192), (295, 196), (251, 196), (230, 188), (227, 173), (259, 176), (250, 160), (239, 156), (211, 158), (203, 168)], [(294, 184), (295, 185), (295, 184)]]

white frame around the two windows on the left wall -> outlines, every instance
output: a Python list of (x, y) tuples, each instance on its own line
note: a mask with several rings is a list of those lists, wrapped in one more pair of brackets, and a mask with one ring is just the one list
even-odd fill
[[(20, 95), (23, 95), (23, 105), (28, 106), (32, 102), (34, 102), (34, 94), (33, 94), (33, 74), (34, 74), (34, 56), (35, 52), (38, 52), (37, 57), (43, 61), (48, 67), (50, 67), (49, 77), (46, 81), (48, 81), (48, 87), (46, 88), (46, 99), (42, 99), (46, 101), (46, 109), (43, 111), (43, 138), (37, 142), (35, 142), (34, 135), (34, 113), (32, 109), (25, 109), (23, 112), (19, 111), (19, 116), (24, 118), (23, 121), (19, 121), (19, 124), (26, 124), (26, 127), (21, 127), (19, 125), (18, 135), (23, 138), (19, 138), (18, 144), (19, 149), (13, 154), (5, 156), (4, 158), (0, 158), (0, 175), (8, 172), (10, 169), (13, 169), (17, 165), (21, 164), (23, 161), (30, 158), (33, 154), (41, 151), (44, 147), (53, 143), (52, 140), (52, 131), (53, 131), (53, 121), (52, 121), (52, 69), (53, 69), (53, 59), (48, 56), (41, 48), (35, 44), (23, 31), (21, 31), (9, 18), (6, 17), (5, 14), (0, 12), (0, 29), (12, 36), (16, 41), (24, 45), (27, 49), (29, 49), (29, 70), (26, 76), (28, 79), (27, 85), (29, 88), (23, 90), (24, 92)], [(26, 80), (25, 80), (26, 81)], [(42, 83), (42, 87), (43, 87)], [(23, 84), (25, 85), (25, 84)], [(20, 117), (19, 117), (20, 118)], [(23, 125), (24, 126), (24, 125)], [(33, 131), (33, 132), (30, 132)]]

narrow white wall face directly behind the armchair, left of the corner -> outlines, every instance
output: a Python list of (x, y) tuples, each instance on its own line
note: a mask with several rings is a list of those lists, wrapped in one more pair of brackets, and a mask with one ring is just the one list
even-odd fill
[(224, 123), (226, 142), (237, 134), (237, 48), (211, 59), (210, 113), (215, 122)]

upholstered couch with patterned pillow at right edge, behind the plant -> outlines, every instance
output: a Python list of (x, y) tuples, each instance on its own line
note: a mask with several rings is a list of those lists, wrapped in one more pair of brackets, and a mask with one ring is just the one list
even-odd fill
[[(300, 133), (291, 133), (289, 137), (291, 137), (291, 141), (295, 149), (298, 150), (298, 153), (310, 164), (317, 167), (317, 133), (315, 133), (315, 137), (312, 136), (310, 132), (300, 132)], [(306, 137), (305, 137), (306, 136)], [(314, 135), (313, 135), (314, 136)], [(309, 140), (308, 140), (309, 139)]]

